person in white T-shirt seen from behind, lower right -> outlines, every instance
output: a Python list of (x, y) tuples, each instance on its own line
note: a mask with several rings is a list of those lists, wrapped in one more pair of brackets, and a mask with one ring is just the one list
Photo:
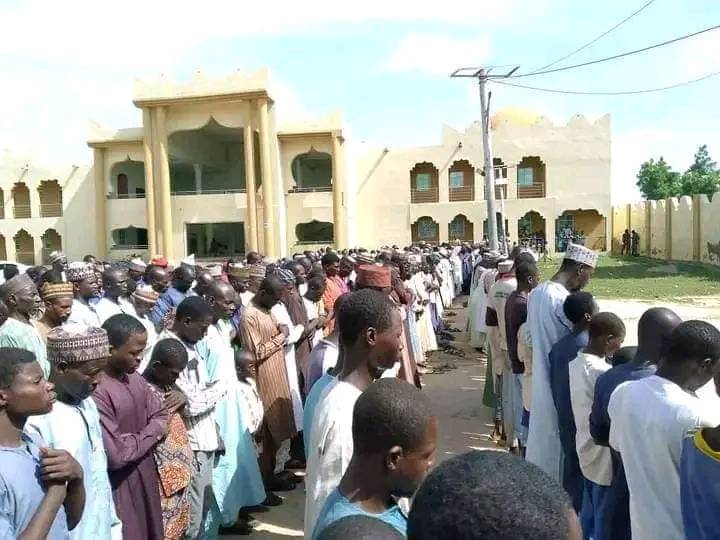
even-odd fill
[(720, 360), (720, 331), (686, 321), (670, 336), (657, 372), (620, 385), (610, 397), (610, 446), (620, 453), (630, 491), (633, 540), (685, 538), (680, 456), (688, 430), (720, 423), (716, 402), (695, 392)]

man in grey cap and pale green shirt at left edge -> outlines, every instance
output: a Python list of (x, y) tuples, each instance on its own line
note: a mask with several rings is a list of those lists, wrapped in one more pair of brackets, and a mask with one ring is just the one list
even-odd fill
[(40, 305), (37, 288), (27, 274), (18, 274), (0, 286), (0, 298), (8, 308), (8, 319), (0, 326), (0, 347), (17, 347), (35, 355), (43, 373), (50, 375), (45, 342), (32, 325), (32, 313)]

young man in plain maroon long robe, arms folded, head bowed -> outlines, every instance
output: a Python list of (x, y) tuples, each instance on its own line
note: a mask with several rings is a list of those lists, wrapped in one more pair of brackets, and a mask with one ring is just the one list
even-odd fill
[(93, 399), (100, 413), (115, 506), (128, 540), (163, 538), (160, 486), (153, 450), (165, 437), (169, 414), (136, 372), (147, 333), (121, 313), (103, 324), (110, 359)]

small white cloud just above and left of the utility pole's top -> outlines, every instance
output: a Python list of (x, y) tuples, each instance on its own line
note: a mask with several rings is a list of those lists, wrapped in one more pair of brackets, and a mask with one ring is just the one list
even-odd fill
[(490, 44), (484, 37), (456, 39), (426, 34), (406, 34), (390, 57), (391, 71), (415, 71), (430, 75), (449, 75), (461, 66), (481, 65)]

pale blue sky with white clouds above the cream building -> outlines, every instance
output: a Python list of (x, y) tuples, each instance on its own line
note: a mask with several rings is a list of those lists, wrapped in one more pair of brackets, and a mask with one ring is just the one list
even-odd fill
[[(477, 89), (456, 67), (530, 71), (587, 43), (647, 0), (0, 0), (0, 150), (38, 165), (87, 164), (91, 123), (141, 125), (136, 80), (181, 82), (267, 67), (281, 121), (341, 109), (351, 136), (388, 147), (432, 145), (441, 126), (479, 118)], [(249, 5), (246, 5), (249, 4)], [(427, 5), (424, 5), (427, 4)], [(655, 0), (559, 65), (720, 24), (718, 0)], [(720, 31), (625, 59), (516, 82), (618, 91), (720, 71)], [(637, 199), (640, 164), (685, 170), (707, 144), (720, 161), (720, 76), (655, 94), (572, 96), (492, 85), (492, 108), (564, 123), (612, 115), (613, 202)]]

